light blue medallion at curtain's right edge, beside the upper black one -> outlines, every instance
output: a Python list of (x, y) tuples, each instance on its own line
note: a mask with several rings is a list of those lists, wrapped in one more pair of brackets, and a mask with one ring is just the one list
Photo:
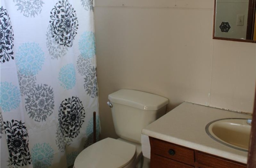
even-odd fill
[(96, 54), (95, 36), (93, 32), (84, 32), (79, 39), (79, 50), (84, 58), (92, 58)]

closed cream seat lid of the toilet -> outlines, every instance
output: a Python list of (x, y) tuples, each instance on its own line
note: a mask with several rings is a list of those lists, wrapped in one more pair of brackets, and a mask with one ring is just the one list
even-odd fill
[(106, 138), (84, 149), (76, 157), (74, 167), (119, 168), (126, 166), (135, 158), (135, 145)]

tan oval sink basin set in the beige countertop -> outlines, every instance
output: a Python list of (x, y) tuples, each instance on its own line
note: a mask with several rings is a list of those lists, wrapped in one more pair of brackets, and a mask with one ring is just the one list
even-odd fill
[(247, 124), (247, 119), (214, 120), (206, 125), (205, 131), (223, 145), (248, 152), (251, 125)]

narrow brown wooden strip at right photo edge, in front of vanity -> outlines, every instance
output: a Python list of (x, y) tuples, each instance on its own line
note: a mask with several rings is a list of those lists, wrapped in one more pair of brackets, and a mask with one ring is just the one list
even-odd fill
[(254, 108), (252, 113), (250, 146), (248, 152), (247, 168), (256, 168), (256, 90), (254, 95)]

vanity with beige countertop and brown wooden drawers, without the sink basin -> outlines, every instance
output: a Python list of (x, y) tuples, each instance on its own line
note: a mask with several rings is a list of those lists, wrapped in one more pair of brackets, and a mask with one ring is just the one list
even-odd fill
[(246, 121), (251, 115), (182, 103), (142, 129), (149, 136), (151, 168), (246, 168), (245, 149), (220, 143), (206, 131), (209, 123), (230, 118)]

